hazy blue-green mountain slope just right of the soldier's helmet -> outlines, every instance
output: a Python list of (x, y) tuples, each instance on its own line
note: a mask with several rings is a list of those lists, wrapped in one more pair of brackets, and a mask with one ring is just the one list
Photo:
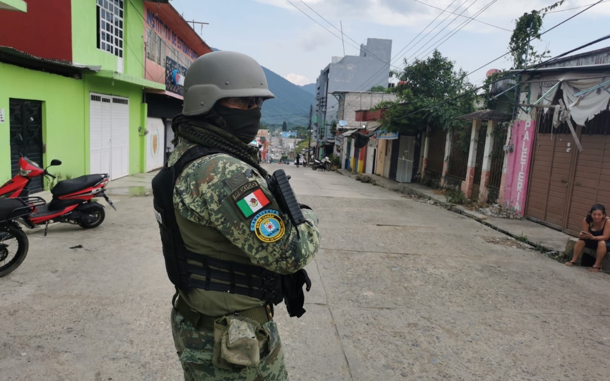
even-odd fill
[[(212, 50), (219, 51), (220, 49), (212, 48)], [(309, 123), (309, 105), (314, 104), (315, 93), (304, 90), (304, 87), (313, 86), (315, 91), (315, 84), (301, 87), (273, 73), (264, 66), (263, 71), (267, 76), (269, 90), (275, 95), (275, 98), (269, 99), (263, 104), (262, 109), (260, 109), (262, 112), (260, 123), (281, 127), (282, 122), (285, 121), (289, 128), (307, 126), (307, 123)]]

